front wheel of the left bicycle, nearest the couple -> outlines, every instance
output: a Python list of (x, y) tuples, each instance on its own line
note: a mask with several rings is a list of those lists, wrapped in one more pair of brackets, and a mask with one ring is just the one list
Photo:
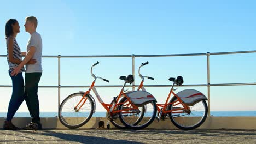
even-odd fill
[(78, 108), (83, 104), (80, 110), (75, 110), (75, 106), (83, 98), (84, 93), (73, 93), (64, 99), (59, 108), (60, 122), (68, 128), (74, 129), (81, 127), (87, 123), (94, 111), (94, 101), (92, 101), (89, 95), (86, 95), (87, 99), (85, 103), (82, 101)]

